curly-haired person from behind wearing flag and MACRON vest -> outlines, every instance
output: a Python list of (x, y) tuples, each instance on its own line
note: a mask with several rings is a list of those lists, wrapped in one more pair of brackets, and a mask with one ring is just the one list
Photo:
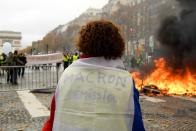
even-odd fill
[(125, 43), (109, 21), (82, 27), (83, 53), (64, 71), (42, 131), (143, 131), (138, 91), (121, 56)]

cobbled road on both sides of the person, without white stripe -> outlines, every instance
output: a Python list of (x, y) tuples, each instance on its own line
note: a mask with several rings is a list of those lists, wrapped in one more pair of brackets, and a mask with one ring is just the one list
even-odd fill
[[(49, 109), (53, 94), (31, 95)], [(41, 130), (48, 116), (32, 117), (21, 99), (16, 91), (0, 92), (0, 131)], [(140, 103), (147, 131), (196, 131), (196, 98), (141, 96)]]

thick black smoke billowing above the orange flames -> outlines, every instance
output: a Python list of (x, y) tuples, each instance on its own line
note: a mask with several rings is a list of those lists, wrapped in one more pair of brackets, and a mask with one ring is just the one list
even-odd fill
[(196, 0), (178, 1), (181, 13), (162, 21), (158, 40), (167, 50), (165, 58), (173, 68), (188, 66), (196, 70)]

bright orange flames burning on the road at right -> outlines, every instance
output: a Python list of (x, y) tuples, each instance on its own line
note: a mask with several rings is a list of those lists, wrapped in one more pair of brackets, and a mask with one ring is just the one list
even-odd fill
[(155, 60), (154, 63), (155, 69), (143, 80), (139, 72), (132, 73), (139, 90), (144, 85), (156, 85), (167, 95), (196, 96), (196, 72), (191, 72), (189, 68), (174, 72), (172, 68), (166, 66), (164, 58)]

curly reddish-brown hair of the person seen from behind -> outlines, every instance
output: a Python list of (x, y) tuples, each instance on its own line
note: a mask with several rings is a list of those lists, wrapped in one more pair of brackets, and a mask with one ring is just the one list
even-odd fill
[(110, 21), (91, 21), (79, 32), (78, 50), (85, 55), (116, 59), (123, 55), (124, 40), (116, 25)]

